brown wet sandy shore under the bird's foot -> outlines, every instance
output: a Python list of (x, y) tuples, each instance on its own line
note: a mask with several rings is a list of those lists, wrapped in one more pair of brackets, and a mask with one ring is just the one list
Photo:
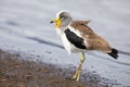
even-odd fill
[(83, 74), (79, 82), (70, 79), (74, 70), (21, 59), (0, 50), (0, 87), (112, 87), (101, 84), (98, 74)]

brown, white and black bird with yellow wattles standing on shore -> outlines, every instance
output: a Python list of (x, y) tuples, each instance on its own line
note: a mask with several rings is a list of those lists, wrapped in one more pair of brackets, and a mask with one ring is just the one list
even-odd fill
[(55, 23), (57, 35), (61, 37), (63, 46), (68, 53), (79, 53), (80, 63), (72, 79), (79, 80), (82, 64), (86, 60), (84, 53), (87, 51), (101, 51), (118, 58), (118, 50), (113, 48), (103, 37), (95, 34), (95, 32), (88, 26), (90, 20), (73, 20), (69, 12), (60, 11), (56, 17), (50, 23)]

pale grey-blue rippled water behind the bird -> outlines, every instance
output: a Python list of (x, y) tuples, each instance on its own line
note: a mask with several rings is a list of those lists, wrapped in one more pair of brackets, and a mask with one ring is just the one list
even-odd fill
[(78, 65), (78, 54), (67, 54), (54, 25), (49, 23), (58, 11), (66, 10), (75, 20), (91, 20), (89, 26), (119, 50), (118, 60), (87, 52), (83, 70), (96, 71), (120, 86), (130, 86), (129, 9), (129, 0), (0, 0), (0, 48), (42, 58), (32, 60)]

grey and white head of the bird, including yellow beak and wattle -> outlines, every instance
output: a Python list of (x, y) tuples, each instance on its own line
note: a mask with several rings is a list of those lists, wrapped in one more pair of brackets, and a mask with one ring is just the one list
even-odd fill
[(50, 23), (55, 23), (56, 28), (64, 28), (73, 21), (72, 16), (66, 11), (60, 11), (56, 17)]

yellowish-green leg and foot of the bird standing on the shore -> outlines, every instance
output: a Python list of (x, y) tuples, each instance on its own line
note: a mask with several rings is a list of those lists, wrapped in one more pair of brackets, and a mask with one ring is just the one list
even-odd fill
[(76, 71), (76, 73), (74, 74), (73, 76), (73, 79), (76, 79), (77, 82), (79, 80), (80, 78), (80, 73), (81, 73), (81, 69), (82, 69), (82, 64), (84, 62), (86, 58), (84, 58), (84, 53), (83, 52), (80, 52), (80, 64), (78, 66), (78, 70)]

